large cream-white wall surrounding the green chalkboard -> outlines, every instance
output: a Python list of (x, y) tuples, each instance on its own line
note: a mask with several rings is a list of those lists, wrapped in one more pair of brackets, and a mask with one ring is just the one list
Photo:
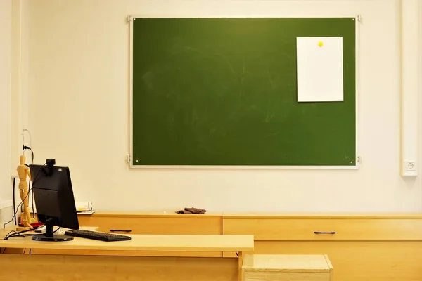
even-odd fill
[[(70, 166), (77, 200), (117, 211), (422, 211), (421, 177), (400, 176), (399, 1), (30, 0), (28, 11), (36, 162)], [(129, 170), (129, 14), (362, 15), (360, 169)]]

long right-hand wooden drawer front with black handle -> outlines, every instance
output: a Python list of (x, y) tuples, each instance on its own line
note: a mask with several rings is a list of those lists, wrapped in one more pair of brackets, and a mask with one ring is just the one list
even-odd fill
[(224, 218), (224, 234), (252, 234), (256, 240), (422, 240), (422, 219)]

